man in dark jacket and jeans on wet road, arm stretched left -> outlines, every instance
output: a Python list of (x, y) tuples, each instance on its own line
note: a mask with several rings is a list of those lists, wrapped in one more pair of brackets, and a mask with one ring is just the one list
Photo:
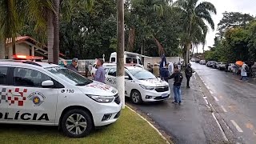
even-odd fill
[(178, 66), (174, 66), (174, 74), (171, 74), (169, 77), (165, 79), (171, 79), (174, 78), (174, 102), (173, 103), (178, 103), (179, 105), (182, 103), (182, 80), (183, 76), (182, 73), (178, 70)]

